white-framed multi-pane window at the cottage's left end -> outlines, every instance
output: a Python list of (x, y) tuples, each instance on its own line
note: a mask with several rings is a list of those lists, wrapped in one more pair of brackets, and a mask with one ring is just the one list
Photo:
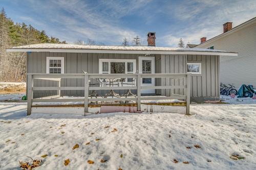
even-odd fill
[(47, 74), (63, 74), (64, 73), (64, 57), (47, 57), (46, 73)]

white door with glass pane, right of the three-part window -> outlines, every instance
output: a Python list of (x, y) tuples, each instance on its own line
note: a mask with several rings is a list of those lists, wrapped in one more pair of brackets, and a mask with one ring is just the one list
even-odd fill
[[(139, 57), (139, 73), (155, 73), (155, 57)], [(155, 78), (142, 78), (142, 86), (155, 86)], [(144, 89), (141, 93), (155, 93), (155, 89)]]

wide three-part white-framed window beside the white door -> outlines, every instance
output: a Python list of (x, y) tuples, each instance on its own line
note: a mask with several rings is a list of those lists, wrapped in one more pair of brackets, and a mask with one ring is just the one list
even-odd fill
[[(133, 74), (136, 73), (136, 60), (99, 59), (99, 73), (106, 74)], [(128, 78), (125, 82), (132, 82)]]

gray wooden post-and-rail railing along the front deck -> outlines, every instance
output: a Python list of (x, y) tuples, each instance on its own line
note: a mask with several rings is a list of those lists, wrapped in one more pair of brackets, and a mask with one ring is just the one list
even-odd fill
[[(189, 115), (190, 104), (190, 74), (27, 74), (27, 86), (28, 86), (28, 111), (27, 114), (31, 114), (31, 108), (33, 102), (84, 102), (84, 112), (88, 112), (89, 102), (110, 102), (110, 101), (135, 101), (137, 103), (137, 110), (141, 110), (141, 101), (147, 100), (169, 100), (178, 99), (186, 102), (186, 114)], [(91, 87), (89, 86), (90, 79), (114, 79), (114, 78), (135, 78), (135, 86), (109, 86), (109, 87)], [(167, 86), (141, 86), (142, 78), (169, 78), (169, 79), (184, 79), (183, 85), (167, 85)], [(51, 80), (57, 81), (58, 87), (34, 87), (34, 80)], [(61, 79), (83, 79), (84, 86), (82, 87), (61, 87)], [(129, 98), (89, 98), (89, 90), (137, 90), (137, 96)], [(141, 96), (141, 90), (143, 89), (184, 89), (184, 95), (171, 93), (170, 96)], [(33, 99), (34, 90), (57, 90), (55, 98), (60, 97), (60, 90), (84, 90), (84, 98), (61, 98), (51, 99), (48, 98)]]

